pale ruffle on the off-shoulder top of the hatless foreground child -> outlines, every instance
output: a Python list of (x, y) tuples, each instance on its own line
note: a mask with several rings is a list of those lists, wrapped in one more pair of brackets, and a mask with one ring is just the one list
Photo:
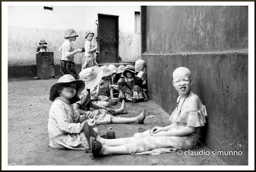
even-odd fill
[(182, 109), (181, 113), (175, 108), (169, 120), (172, 123), (186, 123), (187, 126), (198, 127), (204, 126), (204, 123), (206, 123), (206, 116), (206, 107), (202, 105), (198, 110)]

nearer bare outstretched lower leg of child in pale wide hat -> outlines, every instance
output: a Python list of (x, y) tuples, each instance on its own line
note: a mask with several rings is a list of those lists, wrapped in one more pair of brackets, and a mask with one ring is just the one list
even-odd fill
[(142, 111), (142, 113), (136, 117), (133, 118), (117, 118), (114, 116), (111, 116), (111, 123), (118, 123), (118, 124), (130, 124), (130, 123), (140, 123), (142, 124), (144, 119), (146, 117), (145, 110)]

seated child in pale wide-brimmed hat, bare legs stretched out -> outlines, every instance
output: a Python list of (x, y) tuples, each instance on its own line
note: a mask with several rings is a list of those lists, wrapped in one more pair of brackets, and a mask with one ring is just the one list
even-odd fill
[(126, 114), (127, 110), (125, 108), (125, 101), (122, 102), (119, 109), (111, 109), (103, 106), (98, 106), (93, 104), (90, 98), (89, 89), (94, 88), (103, 76), (100, 70), (95, 69), (95, 67), (86, 68), (79, 73), (80, 79), (86, 83), (85, 89), (79, 94), (81, 100), (74, 103), (75, 111), (79, 111), (82, 115), (87, 113), (87, 111), (92, 111), (94, 119), (96, 119), (96, 124), (107, 124), (107, 123), (140, 123), (142, 124), (145, 119), (145, 112), (133, 118), (118, 118), (114, 117), (115, 114)]

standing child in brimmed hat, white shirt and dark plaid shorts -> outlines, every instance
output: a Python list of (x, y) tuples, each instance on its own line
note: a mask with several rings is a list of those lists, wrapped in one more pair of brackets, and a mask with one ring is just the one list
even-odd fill
[(64, 36), (66, 40), (58, 49), (58, 52), (62, 53), (62, 58), (60, 59), (60, 73), (62, 76), (64, 76), (64, 74), (71, 74), (75, 79), (79, 79), (79, 76), (75, 70), (74, 55), (76, 53), (82, 53), (82, 49), (79, 48), (75, 50), (72, 41), (75, 41), (78, 36), (74, 29), (67, 29)]

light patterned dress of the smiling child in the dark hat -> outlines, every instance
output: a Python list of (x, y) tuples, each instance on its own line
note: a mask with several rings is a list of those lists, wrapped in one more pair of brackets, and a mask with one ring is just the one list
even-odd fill
[(89, 149), (81, 123), (79, 112), (69, 101), (56, 98), (49, 112), (48, 133), (50, 146), (56, 149)]

